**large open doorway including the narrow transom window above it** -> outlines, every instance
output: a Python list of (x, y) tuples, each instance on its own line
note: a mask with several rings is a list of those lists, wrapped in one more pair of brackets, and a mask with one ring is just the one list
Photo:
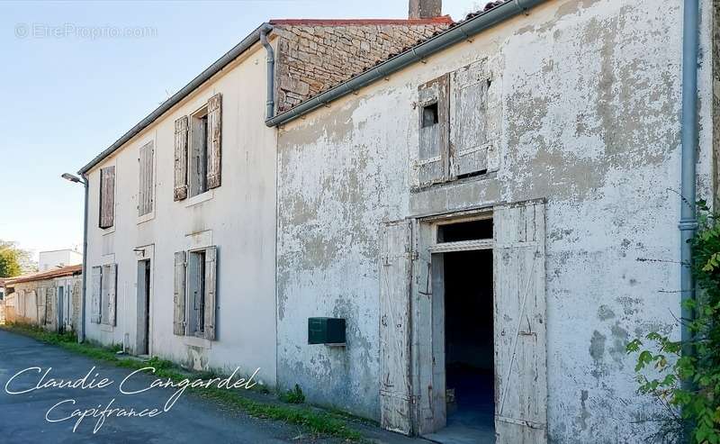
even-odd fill
[(492, 231), (492, 219), (437, 227), (433, 318), (442, 346), (434, 356), (444, 370), (436, 384), (445, 383), (446, 421), (426, 436), (443, 444), (495, 442)]

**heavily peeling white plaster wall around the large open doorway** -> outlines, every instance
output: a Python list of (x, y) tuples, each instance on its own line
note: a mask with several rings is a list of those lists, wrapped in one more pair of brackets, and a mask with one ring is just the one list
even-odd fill
[[(680, 3), (659, 0), (548, 2), (287, 124), (279, 384), (377, 419), (380, 223), (546, 197), (549, 436), (653, 433), (625, 344), (679, 334), (681, 16)], [(709, 54), (708, 2), (702, 19)], [(484, 57), (503, 88), (499, 173), (410, 194), (417, 87)], [(710, 87), (704, 58), (698, 195), (711, 186)], [(311, 316), (347, 318), (347, 349), (308, 346)]]

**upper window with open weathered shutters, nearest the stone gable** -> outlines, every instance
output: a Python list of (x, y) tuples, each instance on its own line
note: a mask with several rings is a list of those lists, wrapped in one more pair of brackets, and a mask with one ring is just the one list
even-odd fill
[(222, 96), (175, 121), (175, 201), (220, 186)]

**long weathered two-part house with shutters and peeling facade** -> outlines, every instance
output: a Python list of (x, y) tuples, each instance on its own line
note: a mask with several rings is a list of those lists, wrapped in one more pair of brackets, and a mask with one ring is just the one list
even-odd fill
[(440, 442), (652, 440), (625, 344), (680, 336), (716, 2), (439, 4), (264, 23), (86, 165), (86, 337)]

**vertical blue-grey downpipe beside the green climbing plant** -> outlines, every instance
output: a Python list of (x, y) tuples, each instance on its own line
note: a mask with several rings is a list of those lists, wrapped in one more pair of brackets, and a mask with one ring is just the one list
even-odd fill
[[(695, 281), (692, 276), (691, 240), (698, 230), (695, 202), (696, 196), (696, 153), (698, 151), (698, 0), (685, 0), (682, 20), (682, 134), (680, 164), (680, 338), (682, 355), (692, 356), (693, 339), (689, 323), (695, 313), (687, 307), (688, 301), (695, 300)], [(683, 381), (685, 387), (691, 381)]]

